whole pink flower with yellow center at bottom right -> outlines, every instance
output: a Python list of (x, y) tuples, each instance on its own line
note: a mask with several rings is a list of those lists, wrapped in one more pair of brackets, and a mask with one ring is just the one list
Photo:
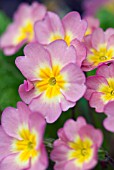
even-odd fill
[(102, 144), (102, 133), (88, 125), (84, 118), (67, 120), (58, 131), (51, 159), (54, 170), (87, 170), (97, 164), (97, 152)]

